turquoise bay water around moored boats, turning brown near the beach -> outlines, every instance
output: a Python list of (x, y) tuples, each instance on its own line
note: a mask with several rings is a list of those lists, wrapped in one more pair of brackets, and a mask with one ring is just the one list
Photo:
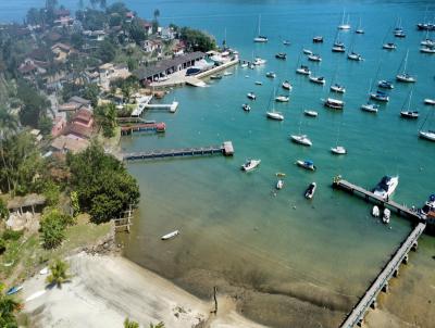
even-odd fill
[[(243, 59), (260, 55), (268, 60), (264, 67), (253, 71), (231, 68), (232, 76), (209, 81), (208, 88), (174, 89), (164, 102), (179, 101), (176, 114), (150, 112), (145, 117), (165, 122), (164, 136), (123, 139), (126, 152), (220, 144), (224, 140), (232, 140), (236, 150), (228, 159), (128, 164), (139, 180), (141, 202), (133, 232), (124, 240), (126, 255), (201, 297), (208, 297), (214, 285), (231, 293), (244, 288), (249, 293), (243, 302), (244, 313), (260, 321), (277, 327), (313, 327), (314, 321), (336, 326), (410, 231), (410, 224), (394, 216), (390, 225), (384, 226), (370, 216), (369, 204), (334, 191), (332, 178), (341, 174), (371, 188), (383, 175), (398, 174), (400, 184), (394, 199), (409, 205), (421, 204), (435, 188), (435, 144), (418, 138), (418, 128), (434, 111), (422, 100), (435, 98), (435, 55), (419, 52), (425, 34), (415, 29), (432, 2), (126, 2), (145, 16), (159, 8), (163, 23), (208, 30), (220, 42), (226, 29), (227, 42)], [(352, 27), (361, 17), (365, 35), (348, 31), (340, 38), (348, 47), (352, 43), (364, 62), (331, 52), (344, 7)], [(265, 45), (252, 42), (259, 13), (261, 31), (270, 39)], [(385, 35), (398, 16), (407, 38), (395, 39), (397, 51), (383, 51)], [(325, 42), (312, 45), (313, 35), (319, 34)], [(290, 47), (282, 45), (284, 38), (291, 40)], [(295, 74), (302, 47), (322, 55), (321, 64), (309, 65), (325, 76), (325, 87)], [(393, 79), (407, 49), (409, 71), (418, 76), (418, 83), (396, 84), (390, 102), (377, 115), (361, 112), (380, 63), (377, 78)], [(275, 60), (278, 51), (288, 53), (287, 61)], [(268, 79), (269, 71), (277, 78)], [(347, 88), (343, 112), (324, 109), (321, 102), (328, 97), (334, 76)], [(285, 121), (268, 121), (271, 94), (274, 88), (278, 93), (284, 91), (279, 88), (284, 79), (294, 85), (290, 102), (274, 105)], [(256, 80), (263, 85), (256, 86)], [(399, 117), (411, 88), (412, 105), (421, 112), (415, 122)], [(241, 103), (248, 101), (249, 91), (254, 91), (258, 100), (251, 102), (252, 111), (245, 113)], [(318, 111), (319, 117), (304, 117), (306, 109)], [(299, 130), (311, 138), (313, 147), (289, 141), (288, 135)], [(348, 155), (330, 153), (337, 139)], [(249, 157), (262, 163), (257, 171), (244, 174), (239, 166)], [(318, 171), (298, 168), (294, 164), (298, 159), (313, 160)], [(275, 195), (276, 172), (287, 176), (285, 188)], [(318, 182), (318, 191), (307, 201), (303, 191), (312, 181)], [(181, 230), (179, 237), (160, 241), (160, 236), (174, 229)], [(307, 316), (313, 321), (303, 319)]]

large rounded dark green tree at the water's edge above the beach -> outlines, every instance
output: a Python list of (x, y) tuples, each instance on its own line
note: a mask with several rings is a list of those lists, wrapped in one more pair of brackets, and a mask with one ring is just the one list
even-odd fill
[(95, 223), (121, 217), (128, 205), (139, 200), (139, 187), (122, 162), (91, 143), (78, 154), (67, 154), (71, 188), (77, 191), (80, 210)]

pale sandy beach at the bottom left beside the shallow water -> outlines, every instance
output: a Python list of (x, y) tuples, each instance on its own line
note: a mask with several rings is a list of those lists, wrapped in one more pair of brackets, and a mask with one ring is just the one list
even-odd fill
[(46, 289), (46, 276), (24, 283), (24, 312), (32, 327), (122, 327), (126, 317), (141, 327), (163, 321), (166, 327), (260, 328), (236, 313), (235, 302), (213, 304), (117, 255), (71, 256), (72, 281)]

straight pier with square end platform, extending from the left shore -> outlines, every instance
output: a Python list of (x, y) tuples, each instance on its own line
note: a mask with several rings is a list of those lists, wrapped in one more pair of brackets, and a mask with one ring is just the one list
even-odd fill
[(222, 146), (209, 146), (199, 148), (182, 148), (171, 150), (151, 150), (146, 152), (127, 153), (123, 155), (124, 161), (135, 160), (156, 160), (167, 157), (188, 157), (188, 156), (202, 156), (223, 154), (224, 156), (232, 156), (234, 154), (233, 143), (225, 141)]

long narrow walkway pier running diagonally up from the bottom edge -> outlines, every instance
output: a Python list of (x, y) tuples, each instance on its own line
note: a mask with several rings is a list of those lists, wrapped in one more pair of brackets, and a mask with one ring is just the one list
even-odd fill
[(352, 328), (355, 325), (362, 325), (362, 320), (369, 307), (376, 306), (376, 298), (378, 293), (382, 290), (387, 292), (389, 279), (398, 275), (401, 263), (408, 263), (408, 253), (411, 249), (417, 249), (418, 239), (423, 234), (425, 227), (426, 225), (424, 223), (419, 223), (411, 234), (409, 234), (408, 238), (402, 242), (391, 260), (384, 266), (358, 304), (347, 315), (346, 319), (340, 325), (340, 328)]

